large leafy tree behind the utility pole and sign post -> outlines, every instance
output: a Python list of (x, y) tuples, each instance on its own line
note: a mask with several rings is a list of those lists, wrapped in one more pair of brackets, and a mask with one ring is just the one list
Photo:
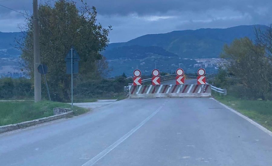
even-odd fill
[[(96, 8), (81, 2), (80, 8), (76, 8), (76, 2), (71, 0), (58, 0), (54, 6), (49, 3), (39, 5), (41, 63), (48, 66), (47, 79), (53, 100), (69, 99), (70, 75), (66, 74), (64, 58), (71, 46), (81, 58), (75, 79), (86, 80), (99, 74), (96, 62), (103, 60), (99, 52), (109, 43), (111, 26), (103, 28), (100, 23), (96, 24)], [(26, 63), (24, 70), (33, 80), (32, 17), (26, 18), (26, 27), (22, 30), (26, 35), (21, 42), (21, 58)]]

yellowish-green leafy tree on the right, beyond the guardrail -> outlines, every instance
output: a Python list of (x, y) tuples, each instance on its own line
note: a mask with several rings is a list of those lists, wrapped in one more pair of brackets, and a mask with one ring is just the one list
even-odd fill
[(265, 99), (271, 89), (270, 84), (264, 81), (271, 75), (266, 70), (271, 63), (264, 54), (265, 48), (253, 44), (248, 37), (234, 39), (229, 46), (225, 44), (221, 54), (228, 60), (228, 71), (239, 77), (241, 84), (251, 91), (254, 98)]

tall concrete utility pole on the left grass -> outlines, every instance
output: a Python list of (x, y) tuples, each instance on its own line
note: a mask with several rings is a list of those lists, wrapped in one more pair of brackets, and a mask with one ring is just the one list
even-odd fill
[(33, 0), (33, 44), (34, 44), (34, 100), (41, 100), (41, 76), (38, 72), (40, 65), (40, 37), (38, 24), (38, 1)]

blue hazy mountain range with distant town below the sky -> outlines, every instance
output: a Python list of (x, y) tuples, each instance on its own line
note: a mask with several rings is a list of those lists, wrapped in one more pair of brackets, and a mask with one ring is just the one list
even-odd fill
[[(175, 71), (182, 67), (185, 73), (195, 73), (199, 67), (207, 72), (217, 70), (224, 60), (219, 59), (222, 46), (235, 38), (249, 37), (254, 41), (254, 28), (264, 30), (265, 25), (241, 25), (231, 28), (201, 28), (197, 30), (172, 31), (164, 34), (147, 34), (128, 42), (110, 43), (101, 52), (113, 69), (109, 76), (125, 72), (131, 76), (138, 67), (150, 75), (155, 67), (160, 71)], [(22, 76), (19, 50), (15, 38), (21, 32), (0, 32), (0, 77)]]

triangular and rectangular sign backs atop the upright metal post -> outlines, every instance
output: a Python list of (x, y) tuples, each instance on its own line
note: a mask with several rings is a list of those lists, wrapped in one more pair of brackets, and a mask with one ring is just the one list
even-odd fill
[[(64, 60), (66, 61), (66, 74), (71, 74), (71, 50), (68, 51)], [(73, 48), (73, 73), (74, 74), (78, 73), (79, 60), (80, 60), (80, 57), (78, 53), (76, 52), (76, 50)]]

